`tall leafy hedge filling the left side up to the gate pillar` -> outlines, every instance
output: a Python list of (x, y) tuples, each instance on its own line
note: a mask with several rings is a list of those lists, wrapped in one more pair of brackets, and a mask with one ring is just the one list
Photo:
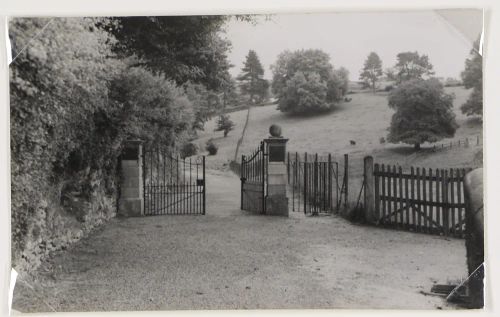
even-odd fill
[(15, 266), (33, 266), (49, 246), (61, 247), (112, 217), (123, 141), (178, 148), (202, 117), (200, 102), (216, 95), (190, 94), (162, 72), (138, 66), (142, 60), (118, 58), (115, 38), (96, 27), (113, 23), (28, 18), (10, 24), (13, 56), (21, 53), (10, 65)]

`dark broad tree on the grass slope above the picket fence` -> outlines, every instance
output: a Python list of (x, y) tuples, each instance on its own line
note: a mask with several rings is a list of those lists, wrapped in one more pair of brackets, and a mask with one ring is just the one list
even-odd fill
[(402, 83), (389, 94), (389, 107), (396, 111), (389, 128), (389, 142), (412, 144), (419, 150), (424, 142), (453, 137), (458, 128), (453, 98), (437, 79)]

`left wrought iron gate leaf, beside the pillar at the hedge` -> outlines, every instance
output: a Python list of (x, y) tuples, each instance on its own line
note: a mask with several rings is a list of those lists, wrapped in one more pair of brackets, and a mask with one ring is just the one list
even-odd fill
[(205, 156), (182, 159), (150, 149), (142, 166), (144, 215), (205, 214)]

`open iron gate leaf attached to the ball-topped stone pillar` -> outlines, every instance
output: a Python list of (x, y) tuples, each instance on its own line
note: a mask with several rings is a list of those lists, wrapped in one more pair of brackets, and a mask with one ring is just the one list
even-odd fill
[(241, 157), (241, 209), (265, 213), (266, 211), (266, 153), (264, 142), (248, 158)]

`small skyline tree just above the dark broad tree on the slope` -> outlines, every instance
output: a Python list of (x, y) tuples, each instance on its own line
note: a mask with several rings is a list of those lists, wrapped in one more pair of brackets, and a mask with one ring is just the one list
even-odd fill
[(403, 52), (397, 55), (398, 62), (394, 66), (394, 76), (399, 84), (406, 80), (424, 79), (434, 75), (432, 64), (427, 55), (418, 52)]

